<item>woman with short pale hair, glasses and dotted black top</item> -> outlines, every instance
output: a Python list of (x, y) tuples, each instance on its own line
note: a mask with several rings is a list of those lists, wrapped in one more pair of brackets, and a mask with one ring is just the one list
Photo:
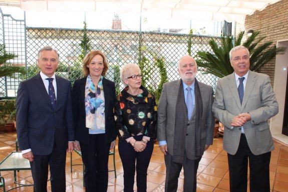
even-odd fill
[(141, 85), (142, 75), (137, 64), (125, 65), (120, 76), (126, 87), (117, 96), (114, 114), (124, 170), (124, 191), (133, 191), (135, 162), (137, 191), (146, 191), (147, 169), (157, 132), (155, 97)]

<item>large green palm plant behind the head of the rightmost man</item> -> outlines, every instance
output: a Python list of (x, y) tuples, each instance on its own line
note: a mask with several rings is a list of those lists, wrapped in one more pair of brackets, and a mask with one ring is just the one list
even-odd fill
[(233, 68), (230, 65), (229, 52), (234, 46), (242, 45), (249, 50), (250, 53), (250, 70), (257, 71), (267, 62), (269, 62), (276, 54), (283, 54), (285, 48), (276, 48), (272, 46), (273, 42), (264, 42), (260, 44), (266, 37), (258, 37), (260, 32), (254, 32), (245, 42), (241, 44), (244, 36), (244, 31), (240, 32), (235, 41), (233, 37), (221, 37), (218, 45), (215, 40), (210, 40), (209, 45), (212, 49), (210, 51), (199, 51), (196, 60), (199, 71), (204, 74), (212, 74), (216, 77), (222, 78), (233, 73)]

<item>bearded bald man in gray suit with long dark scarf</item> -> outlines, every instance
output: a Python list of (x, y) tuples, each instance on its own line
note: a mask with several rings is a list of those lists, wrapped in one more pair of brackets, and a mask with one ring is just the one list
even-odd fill
[(179, 60), (180, 80), (165, 83), (158, 105), (157, 139), (165, 154), (165, 191), (177, 191), (184, 168), (184, 192), (196, 191), (199, 161), (213, 143), (213, 90), (198, 82), (196, 61), (186, 55)]

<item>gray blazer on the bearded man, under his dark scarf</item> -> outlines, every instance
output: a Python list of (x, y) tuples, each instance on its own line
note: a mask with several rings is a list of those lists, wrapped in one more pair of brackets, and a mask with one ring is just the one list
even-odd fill
[[(175, 129), (175, 110), (177, 104), (177, 97), (180, 88), (181, 80), (172, 81), (163, 85), (159, 105), (158, 105), (158, 141), (167, 141), (168, 152), (173, 155), (174, 129)], [(214, 117), (212, 115), (213, 103), (213, 89), (209, 85), (198, 82), (202, 96), (203, 115), (201, 127), (201, 148), (204, 149), (205, 144), (211, 145), (213, 143)], [(197, 107), (197, 106), (196, 106)], [(187, 110), (187, 109), (183, 109)], [(189, 159), (194, 159), (192, 148), (195, 145), (194, 135), (188, 134), (185, 145), (186, 154)], [(184, 150), (184, 149), (183, 149)], [(203, 150), (204, 151), (204, 150)]]

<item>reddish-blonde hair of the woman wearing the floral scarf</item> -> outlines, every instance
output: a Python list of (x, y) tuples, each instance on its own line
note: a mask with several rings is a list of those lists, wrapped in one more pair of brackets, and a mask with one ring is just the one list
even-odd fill
[(108, 62), (106, 59), (106, 56), (104, 55), (104, 53), (100, 50), (93, 50), (90, 51), (83, 60), (83, 65), (82, 65), (82, 70), (83, 70), (83, 75), (84, 77), (87, 77), (89, 75), (89, 68), (87, 67), (87, 65), (92, 61), (92, 59), (96, 56), (96, 55), (100, 55), (103, 58), (103, 65), (104, 65), (104, 69), (102, 71), (103, 76), (106, 75), (106, 72), (108, 70)]

